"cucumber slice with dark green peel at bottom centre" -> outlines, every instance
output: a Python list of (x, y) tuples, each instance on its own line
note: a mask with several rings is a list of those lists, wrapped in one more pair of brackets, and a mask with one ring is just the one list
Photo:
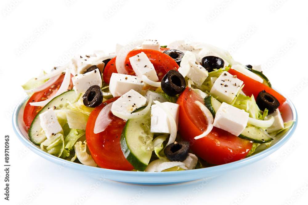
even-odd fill
[[(138, 112), (145, 107), (138, 108)], [(151, 111), (137, 120), (127, 120), (120, 139), (121, 149), (132, 166), (138, 171), (147, 168), (153, 151), (151, 130)]]

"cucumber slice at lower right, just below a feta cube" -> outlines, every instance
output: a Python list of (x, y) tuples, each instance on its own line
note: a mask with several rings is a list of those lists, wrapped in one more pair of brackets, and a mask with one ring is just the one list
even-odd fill
[(244, 131), (238, 137), (245, 140), (251, 140), (254, 143), (259, 143), (259, 144), (267, 143), (273, 140), (273, 138), (271, 138), (269, 135), (265, 134), (258, 128), (250, 126), (246, 126)]

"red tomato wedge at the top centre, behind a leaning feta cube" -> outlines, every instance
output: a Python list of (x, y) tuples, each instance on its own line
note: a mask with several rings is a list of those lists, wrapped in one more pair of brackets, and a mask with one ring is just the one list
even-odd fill
[[(132, 65), (129, 61), (129, 58), (141, 52), (144, 52), (151, 61), (151, 63), (154, 65), (159, 81), (161, 81), (161, 79), (169, 70), (177, 70), (180, 67), (179, 65), (177, 65), (176, 61), (174, 61), (172, 57), (160, 51), (151, 49), (133, 50), (128, 53), (125, 60), (125, 69), (128, 75), (134, 75), (134, 76), (136, 75), (136, 73), (132, 69)], [(106, 83), (110, 83), (110, 77), (112, 73), (117, 73), (115, 67), (115, 58), (111, 59), (111, 61), (107, 63), (104, 69), (103, 80)]]

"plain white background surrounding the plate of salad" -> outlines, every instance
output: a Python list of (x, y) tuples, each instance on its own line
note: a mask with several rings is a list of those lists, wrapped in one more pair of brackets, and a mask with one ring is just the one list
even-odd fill
[[(306, 204), (307, 6), (304, 0), (2, 0), (0, 203)], [(243, 64), (262, 64), (272, 85), (298, 110), (292, 138), (269, 157), (206, 185), (198, 180), (166, 186), (98, 183), (43, 159), (17, 139), (12, 113), (24, 97), (20, 85), (30, 77), (49, 72), (69, 55), (109, 53), (115, 43), (153, 38), (161, 45), (206, 42)], [(5, 135), (10, 136), (10, 201), (4, 200)]]

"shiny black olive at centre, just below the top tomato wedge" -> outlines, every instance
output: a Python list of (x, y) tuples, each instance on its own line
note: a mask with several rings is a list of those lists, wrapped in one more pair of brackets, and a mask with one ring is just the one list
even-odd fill
[(181, 73), (176, 70), (169, 70), (161, 80), (161, 89), (170, 96), (180, 94), (186, 88), (186, 82)]

